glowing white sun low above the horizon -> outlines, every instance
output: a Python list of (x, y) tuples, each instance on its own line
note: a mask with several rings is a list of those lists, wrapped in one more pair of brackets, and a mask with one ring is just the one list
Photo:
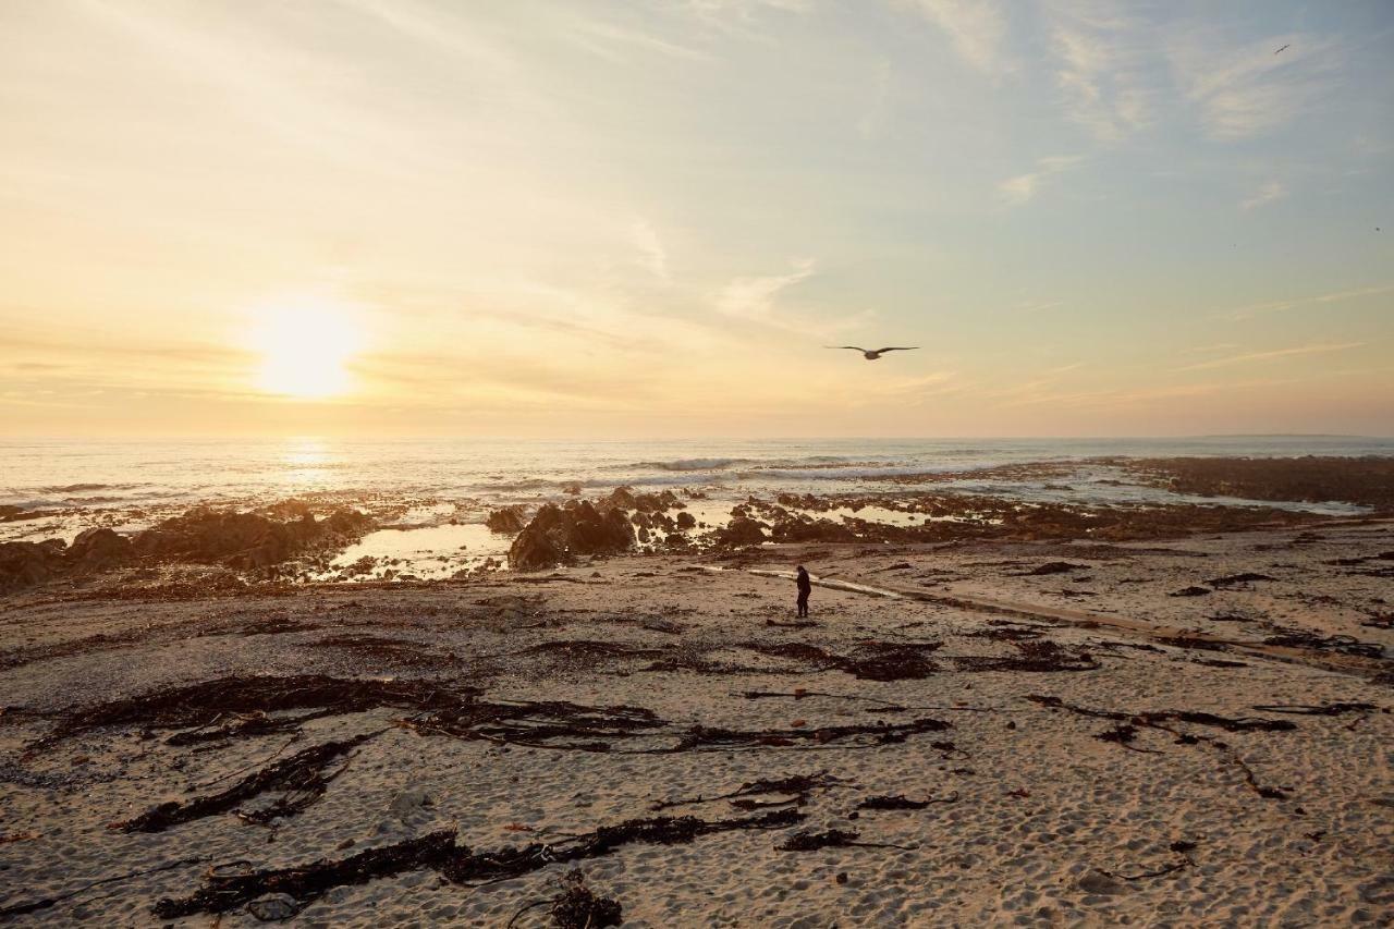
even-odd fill
[(350, 307), (323, 299), (290, 299), (255, 311), (256, 386), (266, 393), (326, 399), (353, 388), (348, 361), (361, 338)]

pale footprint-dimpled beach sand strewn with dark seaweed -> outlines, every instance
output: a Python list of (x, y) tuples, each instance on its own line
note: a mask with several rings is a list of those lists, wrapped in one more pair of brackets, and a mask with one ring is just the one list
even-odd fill
[[(344, 859), (441, 829), (493, 852), (636, 817), (793, 810), (482, 886), (406, 868), (287, 912), (503, 926), (580, 868), (629, 926), (1391, 925), (1391, 551), (1394, 523), (1351, 520), (1121, 544), (767, 545), (227, 596), (38, 587), (0, 607), (0, 908), (57, 898), (15, 925), (250, 926), (277, 904), (152, 907), (198, 893), (210, 868)], [(793, 622), (793, 582), (750, 572), (795, 564), (822, 582), (815, 625), (771, 625)], [(190, 745), (151, 720), (45, 741), (79, 707), (250, 675), (428, 679), (524, 710), (453, 734), (431, 710), (369, 702)], [(625, 730), (611, 711), (581, 738), (537, 728), (541, 702), (648, 714)], [(113, 827), (367, 734), (318, 799), (270, 824), (224, 810)], [(820, 774), (803, 795), (700, 799)], [(857, 809), (878, 795), (935, 802)], [(672, 801), (694, 802), (654, 809)], [(829, 829), (864, 844), (778, 848)], [(552, 922), (537, 905), (514, 925)]]

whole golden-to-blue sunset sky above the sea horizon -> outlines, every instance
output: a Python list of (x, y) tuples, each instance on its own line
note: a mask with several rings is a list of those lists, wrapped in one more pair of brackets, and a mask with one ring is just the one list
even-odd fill
[(0, 437), (1394, 435), (1391, 49), (1388, 0), (10, 0)]

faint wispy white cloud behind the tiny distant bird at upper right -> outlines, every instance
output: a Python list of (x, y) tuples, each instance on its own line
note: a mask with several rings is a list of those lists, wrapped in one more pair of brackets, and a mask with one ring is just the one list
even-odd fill
[(1206, 133), (1220, 141), (1273, 131), (1312, 109), (1344, 59), (1337, 42), (1296, 32), (1234, 46), (1196, 31), (1174, 39), (1168, 56)]

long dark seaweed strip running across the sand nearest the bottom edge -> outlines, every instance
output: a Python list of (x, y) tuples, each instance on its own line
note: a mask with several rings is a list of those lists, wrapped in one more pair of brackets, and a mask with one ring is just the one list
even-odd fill
[(160, 919), (177, 919), (198, 912), (227, 912), (263, 894), (289, 894), (304, 905), (335, 887), (365, 884), (425, 868), (456, 884), (477, 884), (520, 877), (553, 863), (599, 858), (629, 844), (684, 844), (712, 833), (783, 829), (802, 819), (802, 813), (788, 809), (718, 820), (694, 816), (631, 819), (560, 843), (534, 843), (481, 852), (456, 845), (454, 830), (441, 830), (393, 845), (371, 848), (339, 861), (321, 859), (309, 865), (245, 873), (219, 873), (215, 869), (205, 877), (205, 884), (198, 891), (188, 897), (166, 897), (156, 902), (155, 915)]

